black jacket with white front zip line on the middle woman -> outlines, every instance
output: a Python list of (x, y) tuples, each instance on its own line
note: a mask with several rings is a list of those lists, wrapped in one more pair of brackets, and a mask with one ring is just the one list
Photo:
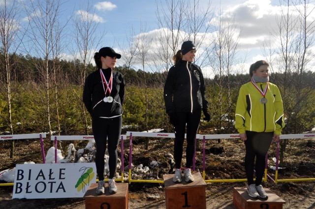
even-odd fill
[(164, 85), (166, 113), (208, 110), (205, 82), (199, 66), (180, 60), (172, 66)]

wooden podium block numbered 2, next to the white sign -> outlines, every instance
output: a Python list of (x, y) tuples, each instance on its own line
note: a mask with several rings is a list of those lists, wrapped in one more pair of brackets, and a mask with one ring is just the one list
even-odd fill
[[(106, 183), (107, 184), (107, 183)], [(128, 183), (116, 183), (117, 193), (110, 194), (105, 186), (105, 194), (96, 194), (97, 183), (92, 183), (85, 193), (85, 209), (128, 209)]]

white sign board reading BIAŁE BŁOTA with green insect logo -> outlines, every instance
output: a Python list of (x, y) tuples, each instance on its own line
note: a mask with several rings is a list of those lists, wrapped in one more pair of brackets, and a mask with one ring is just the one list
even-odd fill
[(12, 198), (83, 197), (96, 182), (95, 163), (16, 165)]

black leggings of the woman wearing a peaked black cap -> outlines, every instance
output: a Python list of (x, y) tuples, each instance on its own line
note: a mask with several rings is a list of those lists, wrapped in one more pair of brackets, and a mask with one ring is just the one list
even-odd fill
[(104, 155), (106, 151), (106, 141), (108, 138), (108, 166), (109, 179), (113, 179), (116, 174), (117, 166), (117, 147), (119, 144), (119, 136), (122, 131), (122, 116), (112, 119), (95, 118), (92, 120), (92, 129), (95, 139), (96, 154), (95, 165), (98, 180), (104, 180)]

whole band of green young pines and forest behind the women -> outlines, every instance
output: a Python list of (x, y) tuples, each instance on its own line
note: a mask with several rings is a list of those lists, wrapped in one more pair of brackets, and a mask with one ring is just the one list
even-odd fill
[[(22, 55), (10, 56), (10, 60), (14, 60), (11, 63), (14, 70), (10, 74), (12, 126), (10, 127), (8, 119), (7, 89), (2, 80), (0, 135), (38, 132), (50, 135), (93, 134), (91, 117), (82, 102), (83, 63), (79, 60), (55, 60), (52, 66), (57, 70), (49, 67), (48, 74), (51, 76), (45, 81), (42, 70), (39, 70), (41, 68), (37, 67), (43, 60)], [(0, 59), (2, 58), (1, 56)], [(49, 60), (49, 63), (52, 62), (54, 61)], [(1, 73), (5, 72), (4, 68), (4, 65), (0, 65)], [(95, 66), (89, 64), (86, 69), (86, 73), (89, 74), (95, 70)], [(128, 130), (144, 131), (153, 128), (163, 128), (164, 132), (172, 132), (163, 100), (167, 72), (134, 70), (126, 66), (118, 66), (115, 70), (120, 71), (126, 81), (123, 113), (123, 125), (126, 128), (122, 134)], [(307, 71), (302, 74), (301, 79), (300, 77), (298, 73), (270, 74), (270, 82), (280, 88), (284, 100), (286, 126), (283, 134), (302, 133), (315, 126), (315, 73)], [(237, 133), (234, 128), (234, 113), (238, 90), (249, 81), (249, 74), (215, 75), (214, 78), (205, 78), (211, 120), (201, 121), (200, 134)], [(288, 140), (284, 142), (283, 149), (290, 144)]]

